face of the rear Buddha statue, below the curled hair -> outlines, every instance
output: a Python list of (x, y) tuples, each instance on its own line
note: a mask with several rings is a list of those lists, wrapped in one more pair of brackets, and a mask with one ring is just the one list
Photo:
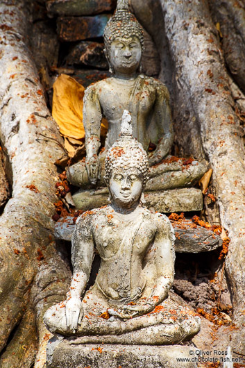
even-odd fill
[(110, 65), (115, 73), (132, 74), (140, 67), (142, 47), (140, 40), (133, 36), (115, 40), (110, 45)]

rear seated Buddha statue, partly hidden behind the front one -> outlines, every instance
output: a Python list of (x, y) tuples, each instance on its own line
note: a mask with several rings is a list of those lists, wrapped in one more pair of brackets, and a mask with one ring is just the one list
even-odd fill
[[(90, 85), (85, 91), (86, 158), (67, 169), (70, 183), (83, 189), (105, 185), (106, 152), (117, 140), (121, 115), (128, 110), (132, 116), (133, 135), (149, 156), (150, 180), (146, 190), (193, 185), (203, 176), (206, 167), (194, 160), (183, 166), (183, 159), (167, 157), (174, 141), (169, 92), (163, 83), (140, 72), (143, 29), (129, 12), (127, 0), (117, 2), (115, 15), (105, 26), (104, 42), (112, 77)], [(105, 147), (99, 152), (102, 118), (108, 121), (108, 133)]]

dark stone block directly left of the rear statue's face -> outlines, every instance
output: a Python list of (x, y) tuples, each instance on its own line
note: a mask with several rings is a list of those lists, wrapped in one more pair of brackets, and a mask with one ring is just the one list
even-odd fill
[(86, 65), (88, 67), (108, 69), (108, 62), (103, 49), (104, 44), (99, 42), (79, 42), (69, 52), (66, 63), (67, 65)]

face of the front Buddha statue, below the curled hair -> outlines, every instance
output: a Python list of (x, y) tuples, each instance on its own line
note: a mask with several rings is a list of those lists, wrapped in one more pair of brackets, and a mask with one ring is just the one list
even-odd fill
[(113, 201), (119, 207), (133, 206), (140, 199), (143, 177), (138, 169), (115, 169), (112, 171), (109, 188)]

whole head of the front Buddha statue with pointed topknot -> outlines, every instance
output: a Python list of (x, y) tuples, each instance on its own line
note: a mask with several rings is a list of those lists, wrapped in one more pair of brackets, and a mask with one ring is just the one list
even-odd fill
[(110, 200), (122, 208), (144, 202), (144, 188), (149, 179), (148, 156), (142, 144), (133, 138), (130, 122), (130, 114), (124, 110), (120, 137), (105, 158), (105, 182)]

